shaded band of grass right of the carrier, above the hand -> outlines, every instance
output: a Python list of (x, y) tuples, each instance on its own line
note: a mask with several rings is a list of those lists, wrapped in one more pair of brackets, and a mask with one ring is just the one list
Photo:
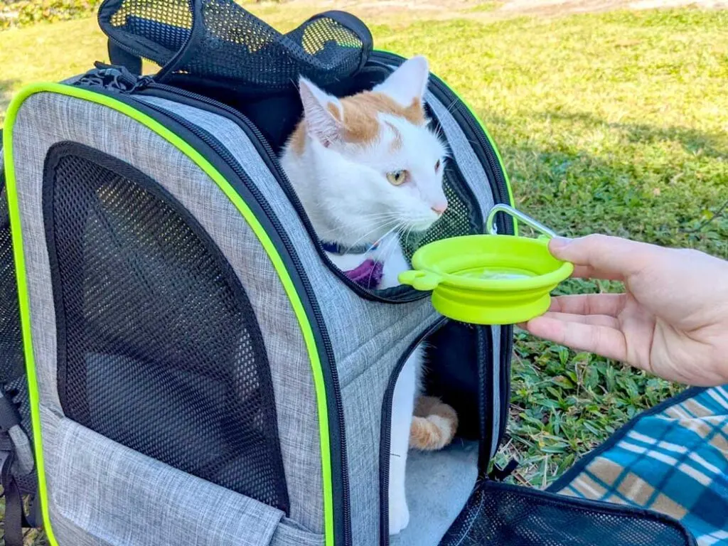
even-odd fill
[[(563, 141), (501, 143), (518, 207), (562, 234), (602, 232), (660, 245), (691, 246), (728, 258), (728, 139), (689, 127), (609, 123), (591, 114), (534, 112), (574, 135), (612, 129), (617, 141), (604, 153)], [(506, 134), (523, 119), (488, 116)], [(566, 141), (571, 141), (567, 138)], [(507, 141), (506, 141), (507, 142)], [(620, 142), (625, 148), (620, 151)], [(684, 154), (668, 155), (660, 143)], [(632, 146), (646, 149), (634, 155)]]

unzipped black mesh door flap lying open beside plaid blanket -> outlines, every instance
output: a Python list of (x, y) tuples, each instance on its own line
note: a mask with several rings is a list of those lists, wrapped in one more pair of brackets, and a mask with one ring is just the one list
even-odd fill
[(691, 546), (683, 527), (655, 513), (586, 503), (484, 482), (440, 546)]

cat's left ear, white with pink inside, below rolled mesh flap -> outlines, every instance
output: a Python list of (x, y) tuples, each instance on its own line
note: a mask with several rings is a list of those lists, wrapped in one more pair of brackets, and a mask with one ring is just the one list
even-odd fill
[(344, 131), (343, 114), (339, 99), (320, 90), (301, 76), (298, 92), (304, 105), (306, 131), (324, 146), (341, 141)]

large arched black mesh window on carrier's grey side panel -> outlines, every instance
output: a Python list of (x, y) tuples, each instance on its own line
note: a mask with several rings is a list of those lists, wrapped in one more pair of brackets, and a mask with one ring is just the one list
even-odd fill
[(129, 165), (68, 143), (47, 158), (44, 215), (66, 416), (287, 512), (261, 333), (199, 223)]

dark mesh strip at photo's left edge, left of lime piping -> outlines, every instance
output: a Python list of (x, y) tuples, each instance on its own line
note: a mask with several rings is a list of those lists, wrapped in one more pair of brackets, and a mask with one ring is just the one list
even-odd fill
[(0, 383), (23, 376), (24, 366), (7, 191), (0, 171)]

